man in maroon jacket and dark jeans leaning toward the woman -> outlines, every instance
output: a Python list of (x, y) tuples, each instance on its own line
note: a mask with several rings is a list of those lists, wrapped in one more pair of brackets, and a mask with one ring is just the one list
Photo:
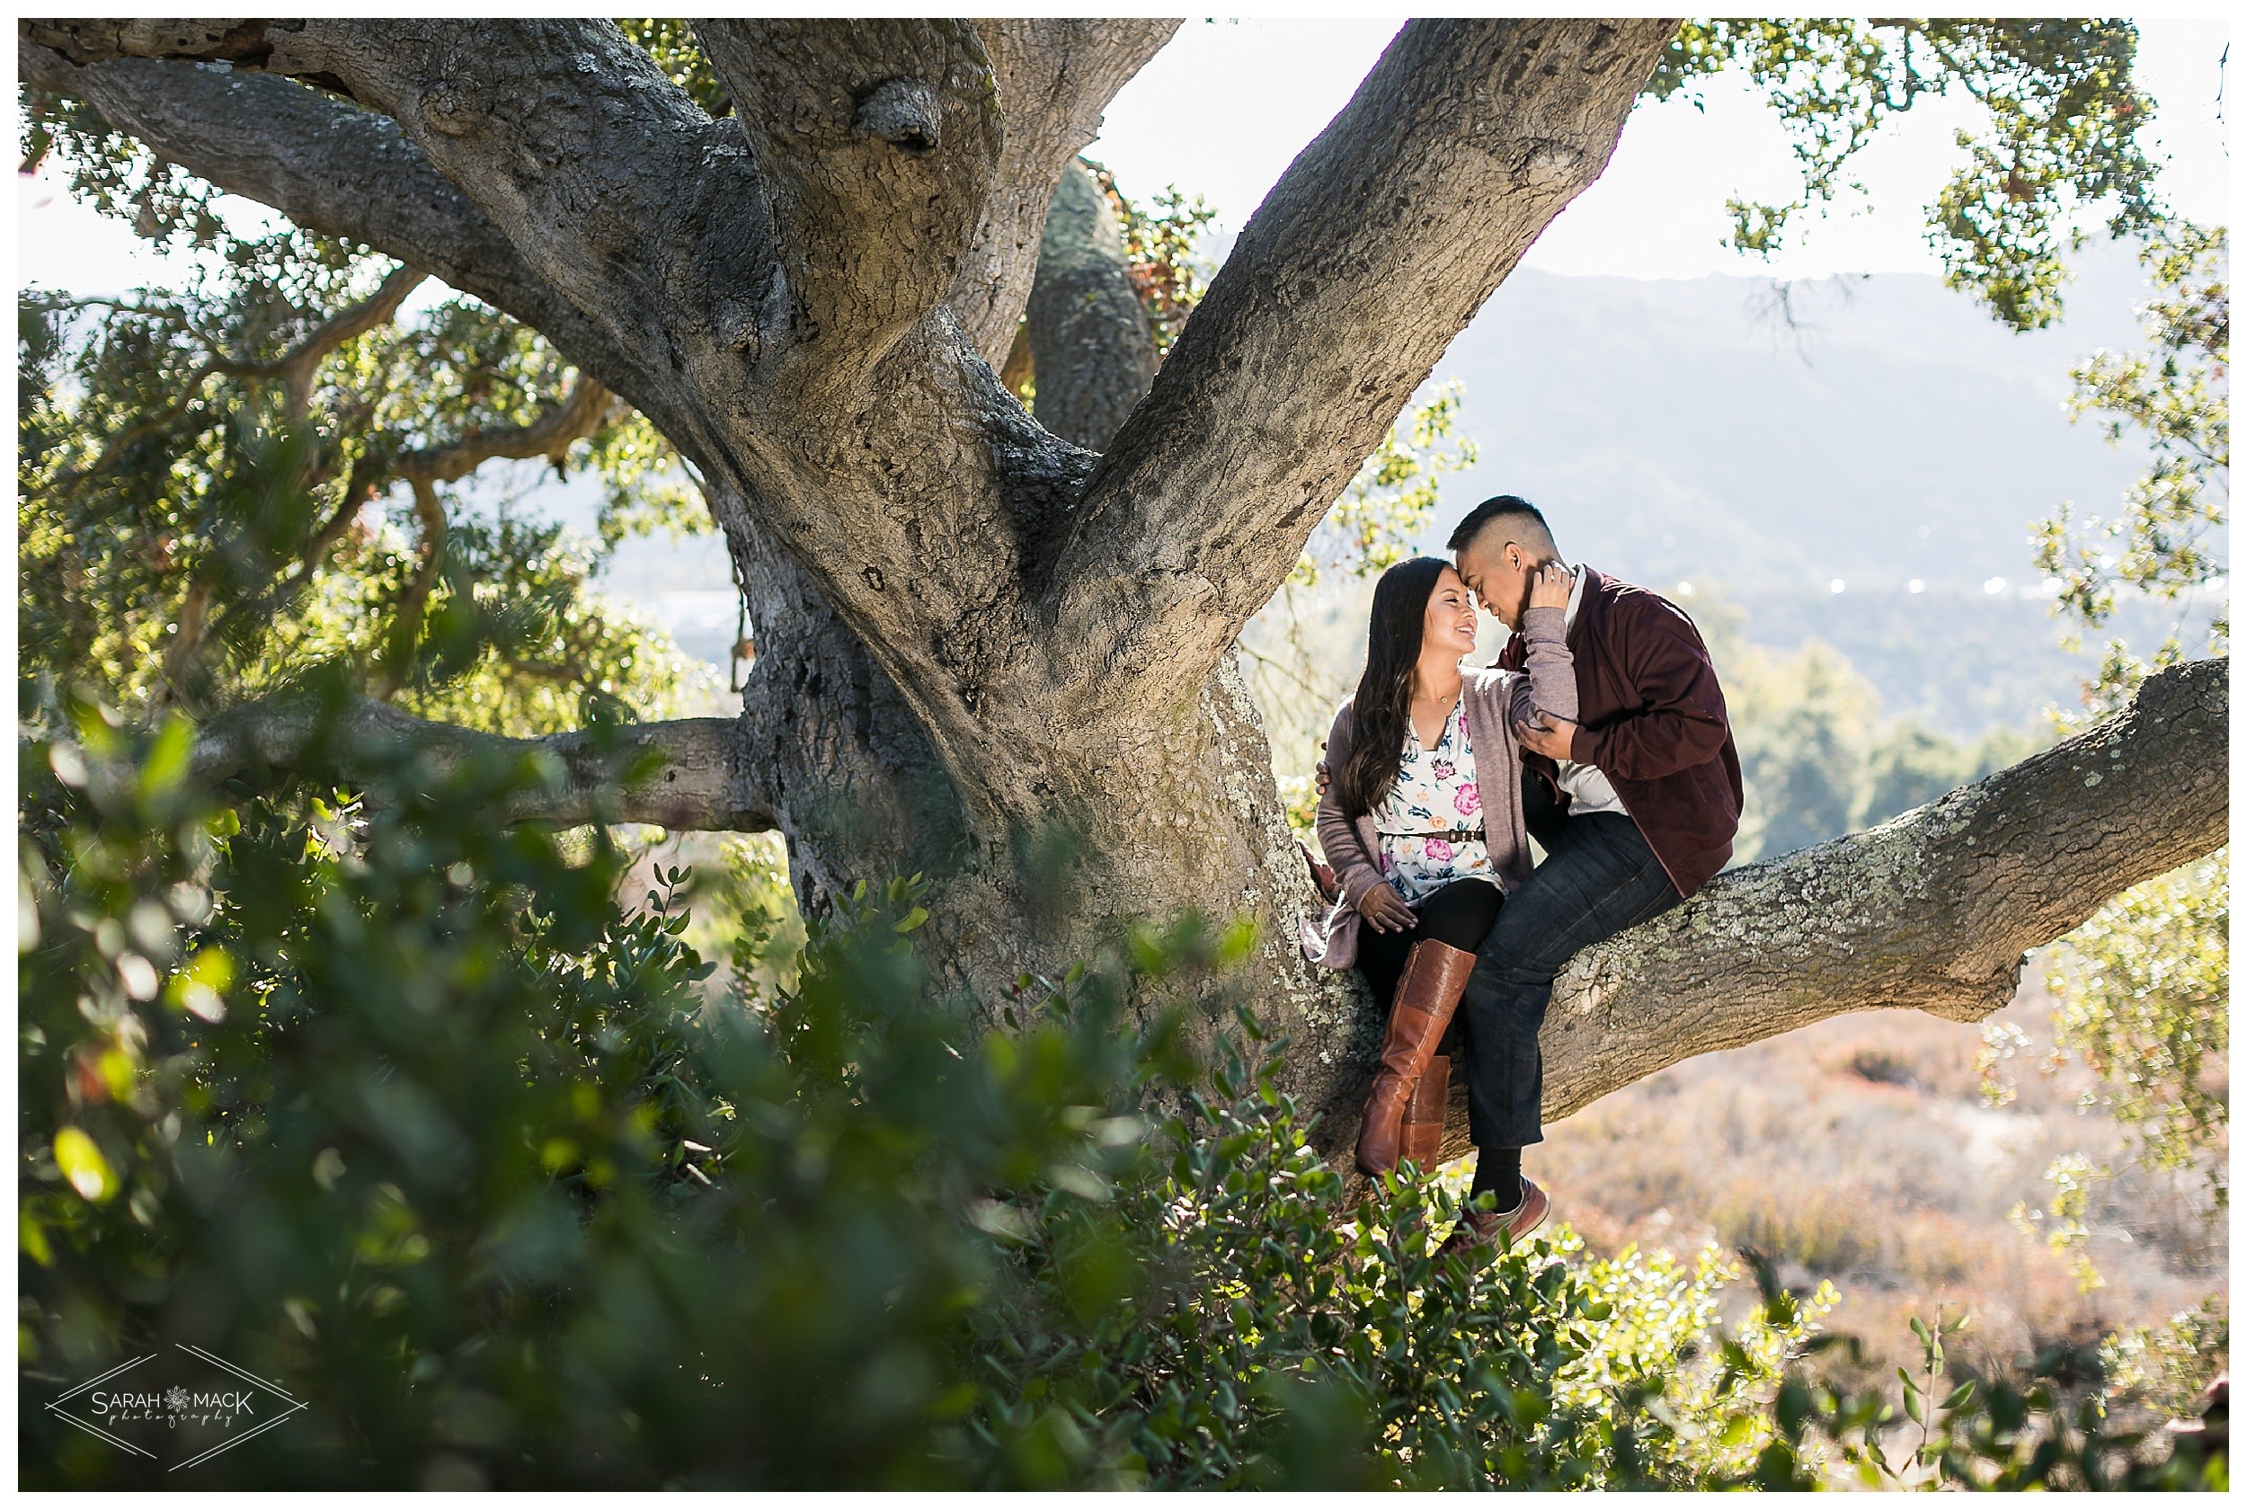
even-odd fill
[[(1483, 609), (1514, 631), (1537, 568), (1559, 562), (1544, 515), (1512, 494), (1479, 503), (1449, 548)], [(1521, 1177), (1521, 1150), (1544, 1141), (1537, 1029), (1553, 977), (1580, 948), (1701, 890), (1732, 858), (1739, 831), (1739, 753), (1692, 620), (1658, 593), (1580, 566), (1566, 625), (1582, 724), (1517, 730), (1528, 827), (1546, 861), (1499, 908), (1461, 998), (1474, 1195), (1483, 1200), (1447, 1254), (1497, 1243), (1501, 1231), (1521, 1238), (1553, 1204)], [(1499, 665), (1521, 670), (1519, 634)]]

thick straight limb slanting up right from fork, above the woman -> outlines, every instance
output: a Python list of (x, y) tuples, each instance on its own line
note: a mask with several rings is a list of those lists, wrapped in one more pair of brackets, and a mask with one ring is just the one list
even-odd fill
[(1047, 573), (1117, 679), (1191, 697), (1483, 299), (1616, 148), (1672, 20), (1416, 20), (1294, 160), (1085, 488)]

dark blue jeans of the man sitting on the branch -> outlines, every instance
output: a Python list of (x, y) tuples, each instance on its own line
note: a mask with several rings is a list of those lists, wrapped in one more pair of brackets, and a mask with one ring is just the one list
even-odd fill
[(1467, 1132), (1476, 1148), (1544, 1141), (1537, 1029), (1568, 957), (1681, 899), (1638, 825), (1622, 813), (1566, 818), (1541, 775), (1523, 771), (1530, 834), (1546, 861), (1505, 897), (1458, 1002), (1467, 1049)]

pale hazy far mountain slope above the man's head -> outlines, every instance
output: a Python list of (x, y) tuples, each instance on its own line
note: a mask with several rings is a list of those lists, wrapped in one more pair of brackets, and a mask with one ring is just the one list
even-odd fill
[(1519, 492), (1649, 584), (2018, 582), (2031, 521), (2135, 472), (2063, 413), (2069, 364), (2135, 337), (2132, 274), (2101, 258), (2063, 328), (2011, 335), (1932, 276), (1795, 285), (1789, 328), (1753, 279), (1523, 270), (1436, 366), (1483, 452), (1447, 492)]

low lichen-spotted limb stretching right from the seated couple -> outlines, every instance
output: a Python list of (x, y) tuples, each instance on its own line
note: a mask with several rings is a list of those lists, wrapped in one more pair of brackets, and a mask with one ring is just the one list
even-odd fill
[[(1723, 872), (1584, 950), (1544, 1025), (1546, 1121), (1845, 1011), (1998, 1011), (2022, 950), (2227, 840), (2229, 670), (2148, 676), (2123, 712), (2043, 755), (1872, 831)], [(1447, 1146), (1465, 1150), (1463, 1092)]]

